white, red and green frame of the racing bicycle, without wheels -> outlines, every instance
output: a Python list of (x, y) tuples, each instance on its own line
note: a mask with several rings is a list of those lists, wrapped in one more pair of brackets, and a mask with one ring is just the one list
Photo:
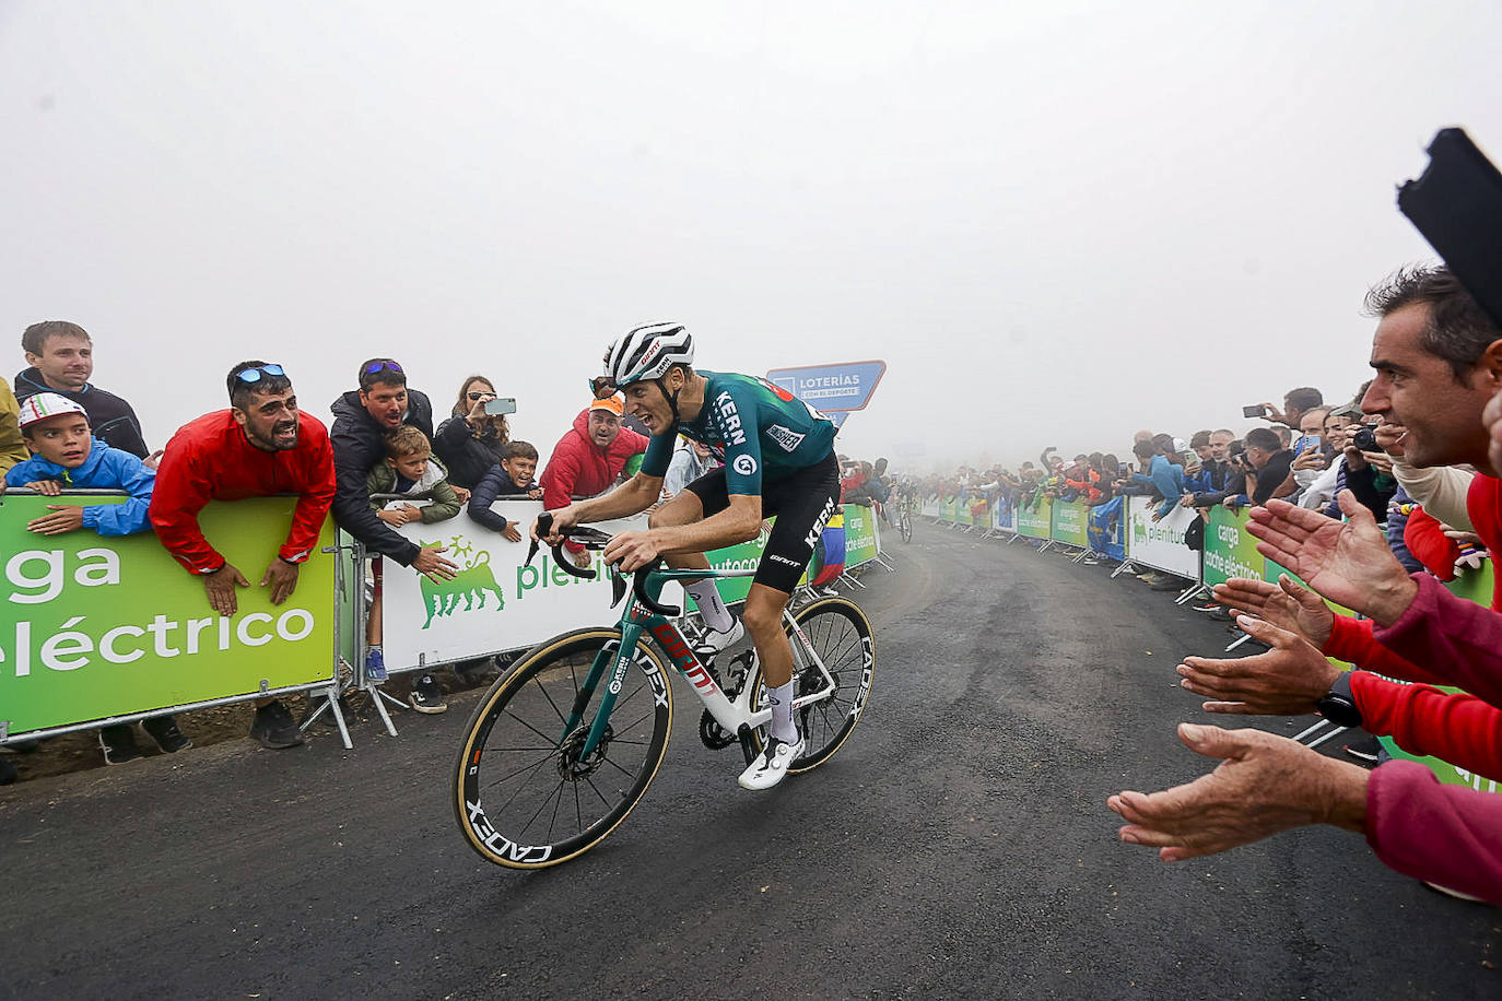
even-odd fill
[[(668, 581), (676, 579), (703, 579), (703, 578), (736, 578), (736, 576), (751, 576), (756, 570), (656, 570), (647, 575), (646, 591), (652, 600), (658, 600), (662, 594), (662, 585)], [(819, 672), (825, 677), (825, 684), (817, 692), (810, 692), (793, 699), (793, 710), (826, 698), (835, 689), (834, 675), (829, 674), (829, 668), (825, 666), (823, 660), (819, 657), (813, 644), (804, 635), (798, 621), (793, 618), (792, 611), (783, 609), (783, 618), (790, 623), (793, 635), (798, 642), (793, 644), (793, 662), (795, 674), (798, 674), (798, 660), (807, 659), (808, 663), (817, 665)], [(766, 725), (772, 719), (772, 710), (751, 708), (753, 687), (746, 684), (736, 701), (731, 702), (730, 696), (725, 695), (724, 689), (715, 681), (709, 674), (709, 668), (694, 654), (694, 650), (683, 639), (683, 633), (679, 632), (677, 626), (671, 620), (658, 615), (656, 612), (649, 612), (643, 609), (635, 594), (626, 593), (626, 605), (622, 609), (620, 621), (617, 623), (620, 629), (620, 641), (617, 645), (605, 644), (598, 654), (595, 654), (593, 663), (590, 663), (589, 674), (584, 675), (584, 683), (580, 684), (578, 696), (574, 699), (574, 707), (569, 711), (568, 720), (563, 725), (563, 737), (572, 734), (584, 722), (584, 707), (589, 705), (589, 699), (593, 698), (595, 690), (599, 683), (605, 680), (607, 671), (610, 675), (610, 683), (605, 686), (605, 693), (599, 699), (599, 705), (595, 710), (595, 719), (589, 728), (589, 737), (584, 740), (584, 746), (580, 749), (580, 756), (587, 756), (593, 753), (595, 747), (599, 746), (601, 738), (605, 735), (605, 726), (610, 722), (610, 714), (616, 707), (616, 696), (620, 693), (622, 681), (626, 677), (626, 671), (631, 669), (634, 660), (632, 651), (643, 638), (650, 639), (661, 650), (668, 663), (671, 663), (679, 674), (689, 683), (694, 689), (694, 695), (704, 704), (709, 714), (715, 717), (725, 732), (736, 734), (742, 738), (742, 746), (748, 740), (751, 729)], [(653, 695), (658, 704), (665, 701), (665, 695)], [(560, 737), (562, 740), (562, 737)]]

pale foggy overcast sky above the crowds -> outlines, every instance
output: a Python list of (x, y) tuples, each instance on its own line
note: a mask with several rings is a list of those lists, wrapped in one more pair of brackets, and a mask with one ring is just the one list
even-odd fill
[[(547, 453), (605, 342), (885, 359), (852, 455), (1125, 453), (1365, 378), (1502, 6), (0, 0), (0, 327), (90, 330), (153, 447), (243, 357), (327, 419), (472, 371)], [(23, 368), (17, 347), (6, 377)]]

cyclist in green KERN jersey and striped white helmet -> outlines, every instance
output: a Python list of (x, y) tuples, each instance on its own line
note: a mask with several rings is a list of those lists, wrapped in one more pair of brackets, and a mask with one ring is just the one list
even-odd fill
[[(625, 393), (652, 441), (641, 470), (611, 492), (553, 512), (553, 533), (625, 518), (656, 503), (677, 435), (709, 446), (722, 462), (655, 510), (646, 531), (623, 531), (605, 561), (632, 572), (664, 557), (674, 569), (709, 569), (704, 552), (748, 542), (777, 515), (746, 594), (740, 623), (712, 579), (688, 587), (707, 629), (709, 656), (751, 632), (766, 678), (772, 722), (765, 752), (740, 774), (746, 789), (768, 789), (804, 753), (793, 720), (793, 648), (783, 609), (808, 567), (825, 522), (838, 510), (840, 465), (834, 423), (763, 378), (694, 369), (694, 339), (679, 323), (635, 327), (605, 350), (605, 374), (590, 380), (596, 399)], [(532, 537), (538, 537), (536, 524)]]

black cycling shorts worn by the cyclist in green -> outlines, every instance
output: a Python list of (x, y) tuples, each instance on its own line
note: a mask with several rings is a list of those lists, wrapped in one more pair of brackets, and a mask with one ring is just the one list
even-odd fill
[[(704, 507), (704, 518), (730, 506), (725, 492), (725, 467), (710, 470), (685, 489), (694, 491)], [(798, 578), (808, 569), (814, 545), (825, 522), (840, 510), (840, 462), (835, 453), (777, 482), (762, 480), (762, 516), (777, 515), (766, 551), (757, 566), (754, 584), (765, 584), (792, 594)]]

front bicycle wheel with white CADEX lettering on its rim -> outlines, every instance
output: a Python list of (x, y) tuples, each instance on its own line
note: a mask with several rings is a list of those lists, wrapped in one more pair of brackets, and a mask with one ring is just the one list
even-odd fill
[(620, 642), (619, 629), (554, 636), (514, 663), (470, 716), (454, 768), (454, 810), (482, 858), (508, 869), (568, 861), (604, 840), (652, 785), (673, 728), (673, 687), (647, 644), (637, 645), (595, 753), (580, 759), (577, 744), (608, 675), (581, 725), (562, 732), (580, 681), (611, 641)]

